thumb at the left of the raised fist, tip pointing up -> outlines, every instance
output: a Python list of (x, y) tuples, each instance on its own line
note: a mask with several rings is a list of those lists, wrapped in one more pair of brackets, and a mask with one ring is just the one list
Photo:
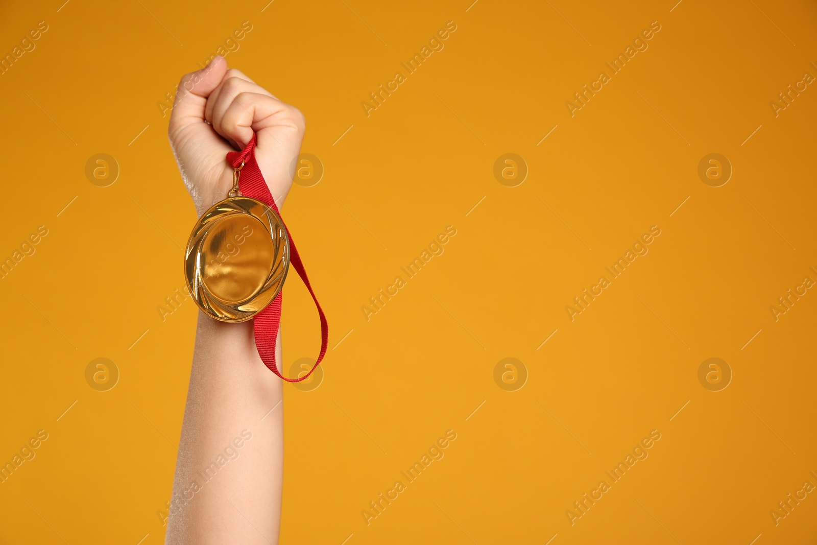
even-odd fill
[(173, 111), (170, 116), (169, 132), (171, 135), (181, 127), (192, 123), (204, 125), (204, 109), (208, 96), (224, 79), (227, 71), (227, 61), (217, 56), (203, 69), (185, 74), (176, 89), (176, 98), (173, 101)]

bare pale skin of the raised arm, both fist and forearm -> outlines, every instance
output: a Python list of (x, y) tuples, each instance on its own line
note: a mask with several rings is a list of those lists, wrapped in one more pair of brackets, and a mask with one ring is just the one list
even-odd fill
[[(225, 156), (253, 133), (261, 173), (281, 208), (304, 127), (300, 111), (221, 57), (181, 78), (168, 135), (199, 215), (227, 196), (233, 169)], [(280, 362), (280, 335), (277, 346)], [(283, 381), (261, 362), (252, 320), (226, 324), (199, 311), (165, 543), (278, 543), (282, 400)], [(205, 475), (213, 462), (217, 471)]]

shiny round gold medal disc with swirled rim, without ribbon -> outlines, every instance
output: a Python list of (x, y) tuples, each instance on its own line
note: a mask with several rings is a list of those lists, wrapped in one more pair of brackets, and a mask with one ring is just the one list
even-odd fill
[(185, 280), (199, 308), (243, 322), (269, 305), (289, 269), (289, 239), (275, 210), (230, 197), (199, 218), (185, 252)]

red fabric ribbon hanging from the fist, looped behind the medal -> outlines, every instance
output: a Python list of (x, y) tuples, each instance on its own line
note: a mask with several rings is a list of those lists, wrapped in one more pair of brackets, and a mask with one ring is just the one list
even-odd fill
[[(280, 216), (281, 213), (278, 207), (275, 206), (275, 199), (272, 198), (270, 188), (267, 187), (264, 176), (261, 174), (261, 169), (258, 168), (254, 153), (255, 146), (256, 136), (253, 135), (252, 140), (243, 150), (231, 151), (227, 154), (227, 162), (230, 163), (233, 168), (239, 168), (241, 163), (244, 163), (241, 169), (241, 175), (239, 176), (239, 190), (241, 190), (241, 194), (252, 197), (252, 199), (260, 200), (261, 203), (265, 203)], [(283, 225), (283, 219), (281, 223)], [(309, 373), (306, 373), (306, 375), (300, 378), (287, 378), (279, 372), (278, 366), (275, 364), (275, 341), (278, 338), (278, 330), (281, 325), (281, 297), (283, 296), (283, 290), (278, 293), (278, 296), (275, 297), (275, 300), (271, 302), (270, 305), (255, 315), (252, 328), (255, 332), (258, 355), (261, 356), (261, 361), (264, 362), (270, 371), (287, 382), (301, 382), (306, 377), (309, 377), (310, 374), (317, 369), (321, 360), (324, 359), (326, 346), (329, 341), (329, 325), (326, 321), (324, 310), (320, 308), (318, 297), (315, 297), (315, 292), (312, 291), (312, 286), (306, 277), (306, 269), (304, 269), (301, 256), (298, 255), (297, 248), (295, 248), (295, 241), (292, 240), (292, 235), (289, 235), (289, 230), (286, 225), (283, 225), (283, 229), (287, 231), (289, 238), (289, 261), (292, 263), (292, 266), (295, 267), (295, 270), (297, 270), (301, 280), (306, 284), (306, 288), (309, 290), (312, 300), (315, 301), (315, 306), (318, 307), (318, 315), (320, 317), (320, 354), (318, 355), (318, 360), (315, 361), (315, 365), (312, 366)]]

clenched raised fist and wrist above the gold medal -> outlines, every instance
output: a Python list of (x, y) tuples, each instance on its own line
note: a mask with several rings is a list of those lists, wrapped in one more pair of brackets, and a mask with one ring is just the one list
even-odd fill
[(301, 151), (304, 116), (217, 56), (185, 74), (167, 130), (181, 177), (201, 215), (233, 186), (229, 151), (242, 150), (257, 134), (256, 160), (278, 208), (292, 186)]

